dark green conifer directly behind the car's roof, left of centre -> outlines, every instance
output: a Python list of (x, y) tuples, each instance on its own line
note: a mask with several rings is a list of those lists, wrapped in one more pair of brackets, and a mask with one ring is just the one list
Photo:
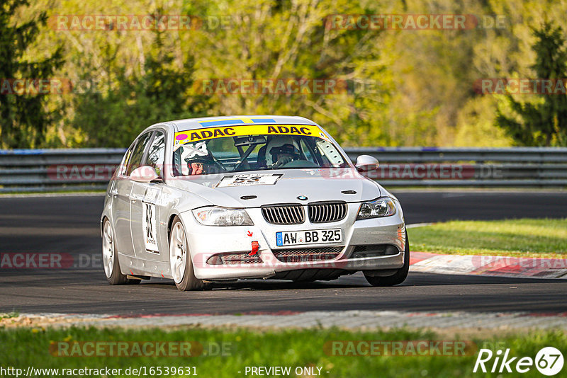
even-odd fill
[[(179, 69), (162, 33), (155, 34), (152, 45), (156, 51), (145, 56), (143, 71), (128, 75), (117, 66), (108, 72), (116, 85), (74, 98), (72, 124), (86, 135), (85, 147), (128, 147), (154, 123), (205, 115), (203, 97), (187, 93), (193, 85), (193, 57), (186, 57)], [(110, 55), (109, 61), (116, 54)]]

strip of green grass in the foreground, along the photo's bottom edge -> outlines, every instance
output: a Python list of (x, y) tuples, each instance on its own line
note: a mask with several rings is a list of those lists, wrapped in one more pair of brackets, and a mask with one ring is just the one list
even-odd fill
[[(465, 357), (446, 356), (333, 356), (323, 345), (333, 340), (458, 340), (441, 337), (431, 331), (349, 332), (338, 329), (303, 331), (250, 331), (249, 329), (184, 328), (165, 331), (158, 328), (10, 328), (0, 329), (0, 365), (40, 368), (121, 368), (146, 366), (196, 367), (199, 377), (246, 377), (246, 366), (322, 367), (322, 377), (496, 377), (498, 374), (473, 374), (477, 353)], [(57, 341), (197, 341), (231, 343), (232, 352), (225, 356), (198, 357), (56, 357), (50, 354), (50, 343)], [(462, 340), (462, 339), (461, 339)], [(544, 346), (567, 349), (567, 334), (562, 332), (527, 333), (490, 339), (467, 338), (477, 348), (510, 348), (511, 355), (535, 357)], [(493, 345), (501, 345), (494, 348)], [(237, 372), (242, 372), (238, 374)], [(329, 371), (330, 373), (326, 373)], [(509, 374), (510, 377), (513, 374)], [(47, 374), (45, 377), (49, 377)], [(121, 374), (120, 376), (124, 376)], [(143, 376), (143, 375), (142, 375)], [(295, 377), (295, 374), (291, 374)], [(44, 375), (42, 375), (44, 377)], [(171, 375), (169, 376), (171, 377)], [(248, 375), (248, 377), (252, 377)], [(522, 377), (541, 377), (532, 368)]]

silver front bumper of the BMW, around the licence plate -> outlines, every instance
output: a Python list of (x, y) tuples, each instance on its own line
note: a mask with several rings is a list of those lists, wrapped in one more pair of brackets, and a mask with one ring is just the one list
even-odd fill
[[(305, 219), (303, 224), (276, 225), (264, 220), (259, 208), (247, 209), (254, 226), (215, 227), (203, 226), (189, 212), (181, 213), (184, 223), (193, 268), (202, 280), (235, 280), (239, 278), (269, 278), (276, 273), (303, 269), (338, 269), (349, 272), (358, 270), (392, 270), (403, 267), (405, 249), (405, 224), (398, 202), (398, 211), (391, 217), (356, 220), (359, 203), (349, 203), (347, 217), (339, 222), (312, 224)], [(306, 210), (306, 209), (305, 209)], [(342, 229), (343, 240), (335, 244), (309, 244), (308, 246), (276, 246), (276, 232), (304, 231), (313, 229)], [(252, 241), (259, 245), (257, 252), (262, 263), (237, 263), (233, 265), (211, 265), (209, 258), (219, 253), (250, 253)], [(387, 256), (353, 258), (356, 246), (387, 244), (397, 253)], [(282, 262), (274, 251), (291, 248), (339, 247), (342, 250), (332, 260)], [(209, 263), (208, 263), (209, 262)]]

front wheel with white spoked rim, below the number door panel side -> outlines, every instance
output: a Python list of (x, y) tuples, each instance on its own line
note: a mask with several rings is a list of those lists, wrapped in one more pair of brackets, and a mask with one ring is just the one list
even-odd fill
[(181, 291), (203, 290), (205, 282), (195, 277), (189, 244), (185, 236), (185, 229), (179, 217), (175, 217), (172, 231), (169, 235), (169, 265), (175, 286)]

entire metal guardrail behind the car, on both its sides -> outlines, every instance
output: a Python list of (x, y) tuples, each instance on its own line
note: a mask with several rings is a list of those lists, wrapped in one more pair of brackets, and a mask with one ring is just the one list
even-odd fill
[[(0, 150), (0, 193), (101, 190), (125, 149)], [(388, 186), (566, 187), (567, 148), (345, 149), (380, 161), (369, 177)]]

